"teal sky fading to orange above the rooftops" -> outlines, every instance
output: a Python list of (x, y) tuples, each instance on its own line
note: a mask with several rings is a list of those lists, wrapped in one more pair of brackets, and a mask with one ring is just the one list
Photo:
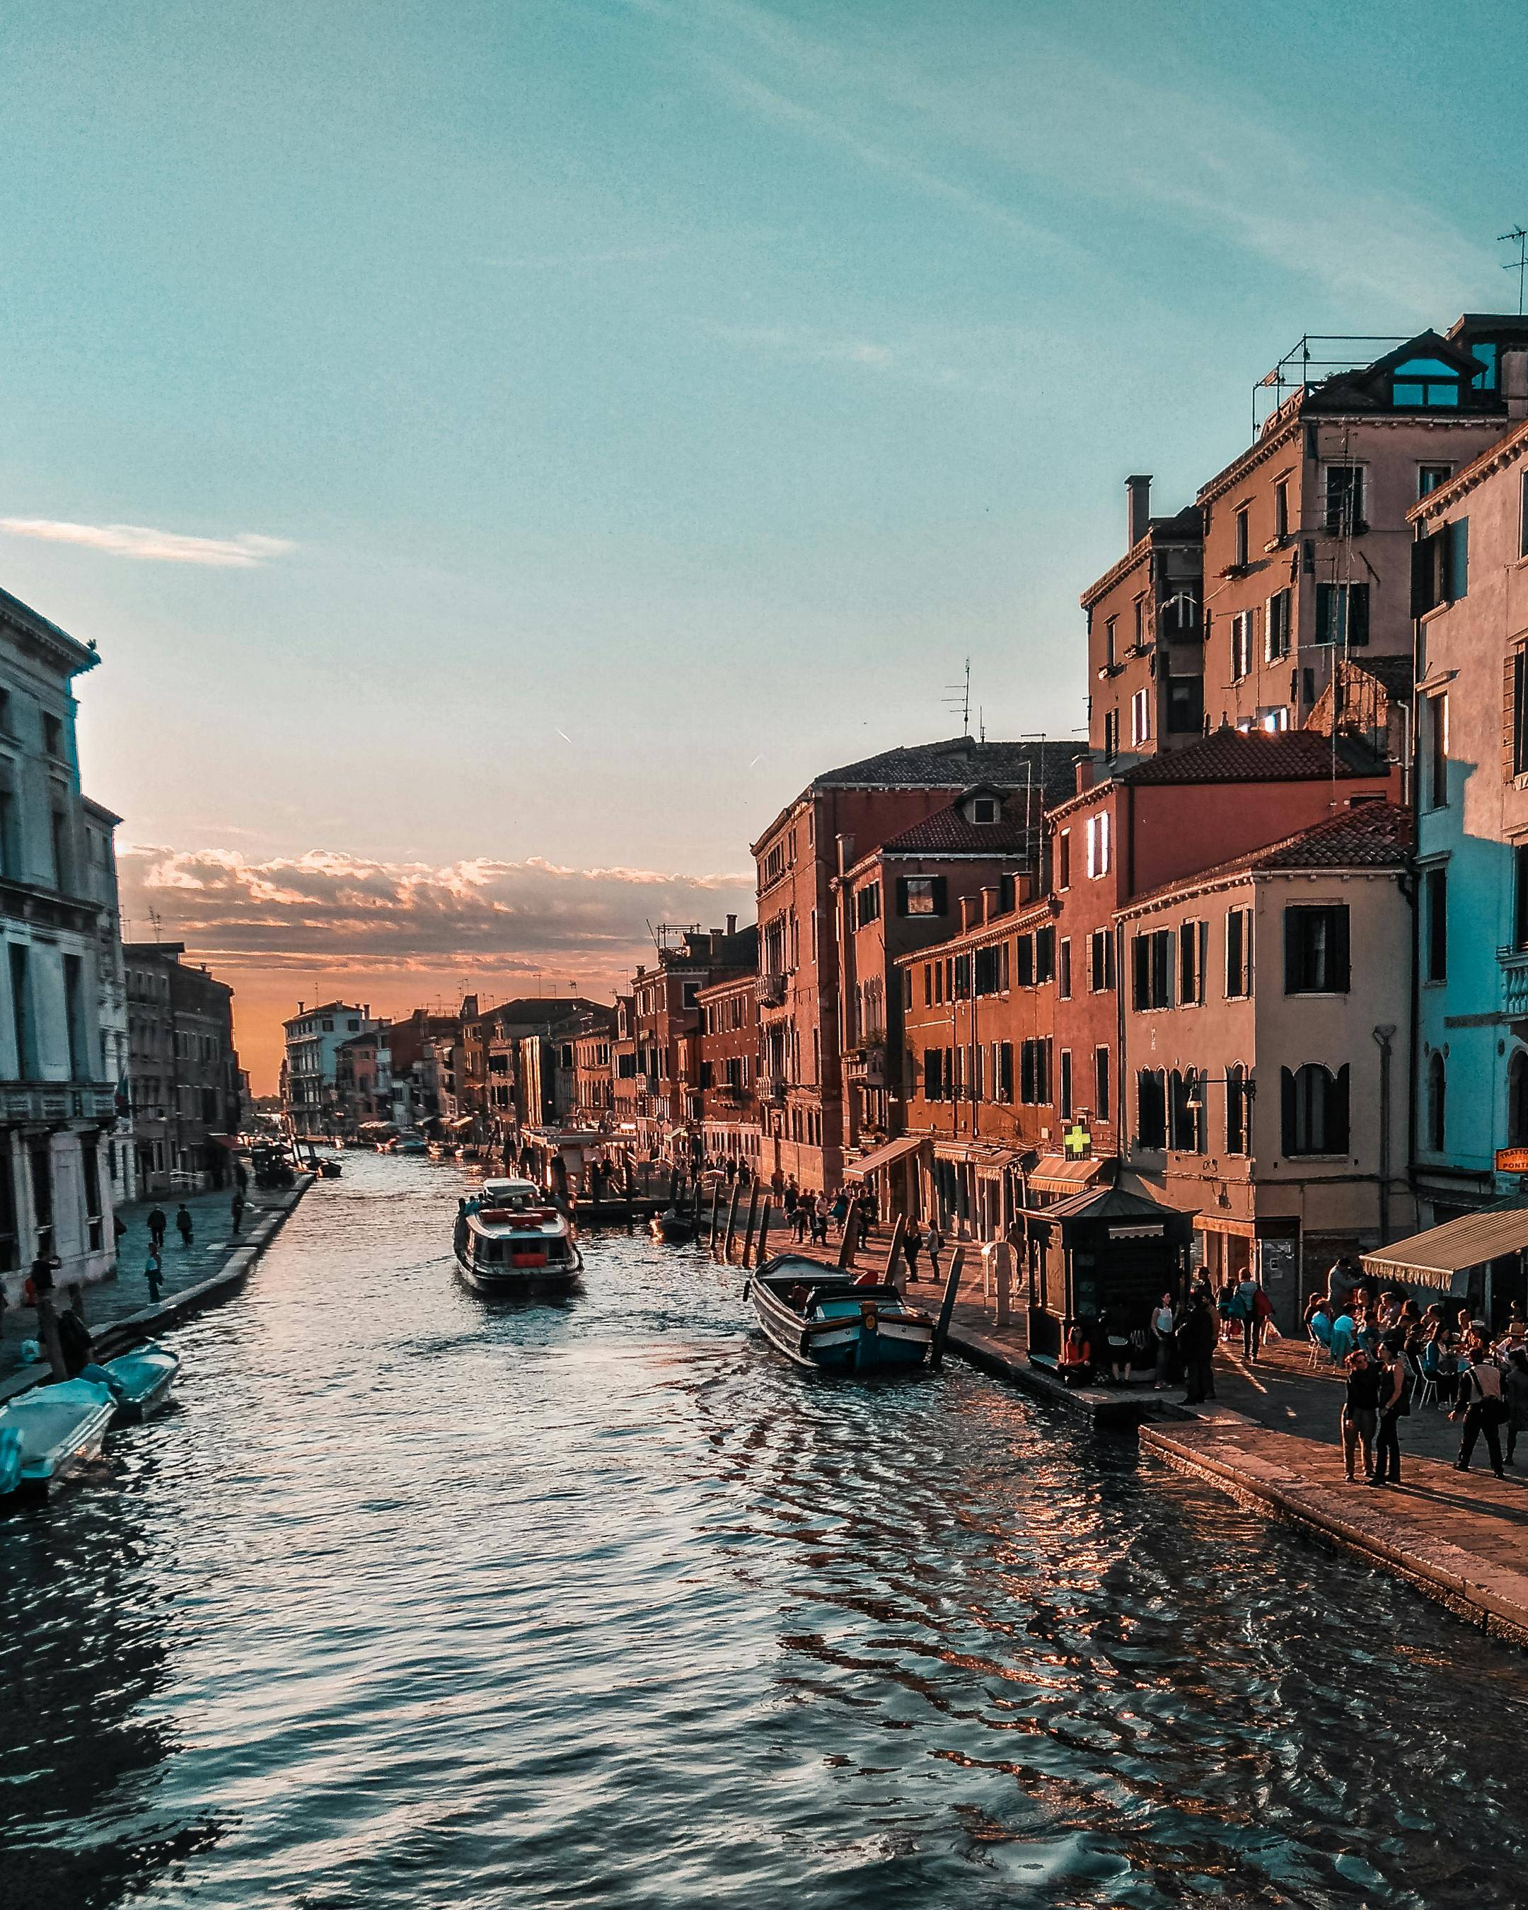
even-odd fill
[[(814, 772), (1085, 728), (1123, 479), (1515, 309), (1520, 10), (42, 0), (0, 584), (128, 932), (279, 1020), (607, 995)], [(1494, 50), (1486, 57), (1482, 50)]]

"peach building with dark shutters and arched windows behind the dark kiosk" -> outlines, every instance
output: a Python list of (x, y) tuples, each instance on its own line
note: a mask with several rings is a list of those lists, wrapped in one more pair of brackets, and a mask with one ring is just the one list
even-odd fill
[(1415, 1224), (1408, 846), (1406, 810), (1360, 804), (1119, 911), (1125, 1184), (1285, 1331), (1339, 1253)]

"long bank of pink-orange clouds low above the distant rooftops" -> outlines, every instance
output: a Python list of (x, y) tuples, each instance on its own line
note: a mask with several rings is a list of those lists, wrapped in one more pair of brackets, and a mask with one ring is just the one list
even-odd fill
[(541, 856), (434, 865), (334, 850), (254, 860), (235, 848), (118, 852), (122, 911), (227, 974), (351, 972), (414, 980), (577, 976), (611, 987), (644, 959), (647, 923), (711, 926), (751, 913), (751, 875), (573, 869)]

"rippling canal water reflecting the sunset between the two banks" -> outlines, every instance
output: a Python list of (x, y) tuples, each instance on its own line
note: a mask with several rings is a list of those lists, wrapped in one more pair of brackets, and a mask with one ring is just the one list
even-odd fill
[(1522, 1895), (1518, 1654), (690, 1249), (487, 1305), (460, 1186), (346, 1156), (0, 1524), (6, 1910)]

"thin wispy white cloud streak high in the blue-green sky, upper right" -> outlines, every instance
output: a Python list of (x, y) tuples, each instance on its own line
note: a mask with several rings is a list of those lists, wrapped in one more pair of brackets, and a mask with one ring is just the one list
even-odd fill
[(1494, 283), (1486, 250), (1446, 214), (1326, 128), (1306, 134), (1308, 103), (1270, 109), (1266, 90), (1182, 59), (1167, 82), (1112, 67), (1026, 10), (991, 34), (951, 34), (938, 13), (923, 36), (888, 32), (871, 13), (829, 38), (749, 0), (628, 6), (676, 29), (682, 57), (741, 111), (1049, 250), (1079, 250), (1062, 233), (1083, 199), (1196, 225), (1333, 296), (1429, 321)]

